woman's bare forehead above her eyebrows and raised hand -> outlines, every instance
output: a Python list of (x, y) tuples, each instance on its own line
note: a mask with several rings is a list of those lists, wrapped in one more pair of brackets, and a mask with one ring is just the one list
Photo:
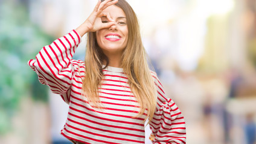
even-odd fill
[(126, 14), (122, 10), (122, 8), (117, 7), (117, 5), (110, 5), (105, 10), (103, 10), (103, 13), (109, 13), (112, 19), (115, 19), (117, 17), (126, 17)]

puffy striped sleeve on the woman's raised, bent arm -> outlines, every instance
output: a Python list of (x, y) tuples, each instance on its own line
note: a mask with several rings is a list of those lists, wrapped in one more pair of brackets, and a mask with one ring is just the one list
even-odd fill
[(28, 61), (31, 69), (36, 71), (39, 82), (48, 85), (55, 94), (66, 95), (71, 87), (74, 76), (71, 58), (80, 40), (80, 35), (73, 30), (53, 41), (49, 46), (43, 47), (36, 55), (36, 59)]

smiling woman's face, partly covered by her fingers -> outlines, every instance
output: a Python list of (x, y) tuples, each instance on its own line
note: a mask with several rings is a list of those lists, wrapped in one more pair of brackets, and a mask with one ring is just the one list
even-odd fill
[[(123, 52), (128, 40), (128, 27), (126, 23), (126, 14), (116, 5), (110, 5), (103, 13), (109, 13), (110, 17), (115, 20), (115, 25), (109, 28), (97, 31), (98, 46), (106, 53)], [(109, 22), (107, 17), (101, 17), (101, 22)]]

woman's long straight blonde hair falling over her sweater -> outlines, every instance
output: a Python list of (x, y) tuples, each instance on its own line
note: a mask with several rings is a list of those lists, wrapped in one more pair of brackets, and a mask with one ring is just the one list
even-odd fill
[[(129, 80), (130, 89), (139, 103), (138, 116), (147, 110), (147, 118), (151, 121), (156, 109), (156, 86), (147, 64), (138, 19), (132, 7), (125, 0), (119, 0), (115, 5), (123, 9), (126, 14), (129, 32), (127, 46), (121, 59), (121, 67)], [(100, 103), (98, 86), (101, 85), (101, 80), (104, 78), (103, 64), (106, 64), (107, 67), (109, 59), (98, 46), (96, 32), (89, 32), (85, 57), (86, 73), (82, 90), (88, 101), (95, 106)]]

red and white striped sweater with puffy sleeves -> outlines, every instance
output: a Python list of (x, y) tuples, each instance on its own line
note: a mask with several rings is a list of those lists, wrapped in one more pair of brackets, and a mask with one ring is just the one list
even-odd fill
[[(103, 109), (91, 106), (82, 97), (83, 61), (72, 56), (81, 37), (74, 30), (43, 47), (36, 59), (28, 61), (36, 71), (39, 82), (48, 85), (69, 104), (68, 117), (61, 134), (69, 140), (82, 143), (144, 143), (144, 118), (136, 117), (139, 104), (130, 90), (122, 68), (107, 67), (99, 88)], [(155, 73), (157, 105), (149, 123), (153, 143), (185, 143), (185, 121), (181, 111), (170, 98)]]

